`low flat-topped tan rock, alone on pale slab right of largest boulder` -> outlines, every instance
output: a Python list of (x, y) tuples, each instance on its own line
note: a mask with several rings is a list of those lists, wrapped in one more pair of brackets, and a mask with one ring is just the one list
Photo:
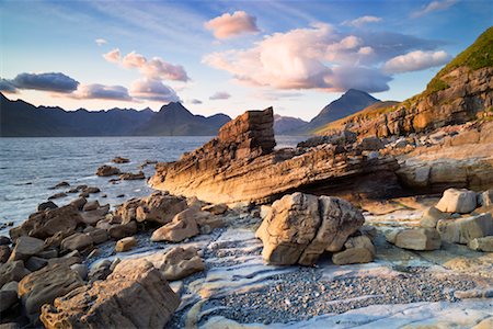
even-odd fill
[(386, 235), (386, 238), (399, 248), (411, 250), (436, 250), (442, 246), (440, 236), (431, 228), (397, 229)]

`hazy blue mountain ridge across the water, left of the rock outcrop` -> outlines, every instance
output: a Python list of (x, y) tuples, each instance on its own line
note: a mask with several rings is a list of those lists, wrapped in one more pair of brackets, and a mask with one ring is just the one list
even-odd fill
[[(167, 111), (171, 107), (174, 110)], [(22, 100), (10, 101), (0, 93), (1, 137), (216, 135), (230, 120), (225, 114), (194, 115), (181, 103), (164, 105), (158, 113), (150, 109), (65, 111), (36, 107)]]

